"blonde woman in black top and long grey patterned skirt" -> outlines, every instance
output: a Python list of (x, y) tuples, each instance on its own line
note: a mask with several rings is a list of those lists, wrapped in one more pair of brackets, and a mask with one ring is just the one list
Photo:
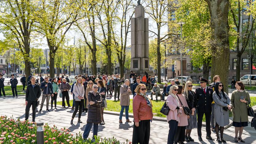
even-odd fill
[(194, 142), (194, 139), (190, 137), (191, 131), (197, 128), (197, 117), (196, 117), (196, 97), (195, 92), (192, 90), (192, 82), (187, 81), (184, 87), (183, 94), (185, 95), (187, 104), (192, 113), (189, 115), (188, 125), (186, 126), (185, 141)]

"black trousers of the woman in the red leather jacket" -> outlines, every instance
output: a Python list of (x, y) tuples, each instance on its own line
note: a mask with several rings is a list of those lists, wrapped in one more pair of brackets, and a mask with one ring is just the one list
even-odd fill
[(139, 126), (133, 125), (132, 143), (148, 144), (150, 137), (150, 120), (142, 120)]

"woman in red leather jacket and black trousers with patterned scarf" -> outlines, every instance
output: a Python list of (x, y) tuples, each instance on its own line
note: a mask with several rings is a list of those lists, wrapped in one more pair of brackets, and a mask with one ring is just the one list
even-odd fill
[(150, 137), (150, 121), (152, 122), (152, 102), (146, 95), (146, 86), (139, 84), (133, 98), (133, 135), (132, 143), (149, 143)]

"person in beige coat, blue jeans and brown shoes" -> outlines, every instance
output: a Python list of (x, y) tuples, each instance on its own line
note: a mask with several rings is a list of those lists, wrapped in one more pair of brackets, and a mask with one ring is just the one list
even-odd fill
[(130, 106), (130, 94), (132, 93), (130, 87), (130, 81), (129, 79), (126, 79), (124, 81), (124, 84), (120, 87), (120, 105), (121, 105), (121, 111), (119, 114), (119, 123), (122, 122), (122, 117), (125, 109), (125, 118), (126, 122), (131, 122), (129, 120), (129, 106)]

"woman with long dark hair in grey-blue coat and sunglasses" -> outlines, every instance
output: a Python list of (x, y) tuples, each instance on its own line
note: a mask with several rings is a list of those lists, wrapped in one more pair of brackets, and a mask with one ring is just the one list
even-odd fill
[[(222, 82), (216, 82), (213, 92), (214, 100), (214, 126), (217, 135), (217, 141), (226, 143), (223, 138), (224, 126), (229, 124), (229, 110), (232, 108), (228, 95), (223, 90)], [(224, 109), (226, 108), (226, 109)], [(227, 110), (228, 109), (228, 110)], [(219, 126), (220, 126), (220, 137), (219, 138)]]

